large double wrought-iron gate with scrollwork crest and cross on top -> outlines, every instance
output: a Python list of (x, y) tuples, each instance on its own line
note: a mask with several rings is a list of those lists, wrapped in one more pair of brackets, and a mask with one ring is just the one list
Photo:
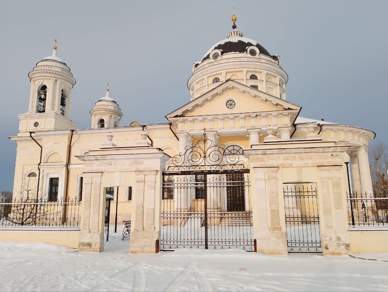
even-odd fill
[(249, 169), (204, 133), (163, 172), (161, 249), (254, 251)]

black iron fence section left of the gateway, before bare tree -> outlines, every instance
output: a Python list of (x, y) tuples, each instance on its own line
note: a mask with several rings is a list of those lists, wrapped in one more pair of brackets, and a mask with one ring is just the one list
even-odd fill
[(0, 199), (0, 227), (81, 226), (79, 200)]

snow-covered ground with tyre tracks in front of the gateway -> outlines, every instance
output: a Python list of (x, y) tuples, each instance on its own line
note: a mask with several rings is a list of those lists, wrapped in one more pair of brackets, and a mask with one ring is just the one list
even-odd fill
[[(239, 250), (181, 249), (129, 254), (121, 227), (104, 252), (42, 243), (0, 242), (2, 291), (387, 291), (388, 263), (266, 256)], [(387, 254), (374, 254), (387, 258)], [(367, 257), (364, 254), (363, 257)]]

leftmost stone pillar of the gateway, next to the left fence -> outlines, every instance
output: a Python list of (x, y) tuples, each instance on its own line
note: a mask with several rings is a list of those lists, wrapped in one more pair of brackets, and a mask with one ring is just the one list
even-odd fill
[(104, 249), (105, 196), (100, 195), (101, 176), (100, 172), (83, 175), (81, 251), (101, 252)]

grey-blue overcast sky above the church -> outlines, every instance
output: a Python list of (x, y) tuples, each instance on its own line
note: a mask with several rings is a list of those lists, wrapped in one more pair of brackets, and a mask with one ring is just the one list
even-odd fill
[(77, 83), (71, 116), (89, 111), (110, 84), (121, 125), (166, 122), (189, 102), (192, 63), (237, 29), (280, 55), (287, 99), (300, 116), (352, 124), (388, 140), (388, 1), (7, 1), (0, 18), (0, 190), (12, 190), (19, 120), (28, 109), (28, 72), (58, 54)]

